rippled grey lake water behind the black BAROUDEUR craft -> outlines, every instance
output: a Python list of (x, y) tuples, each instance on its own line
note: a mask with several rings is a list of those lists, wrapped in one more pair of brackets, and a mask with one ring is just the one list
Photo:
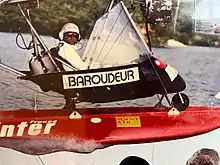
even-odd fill
[[(16, 34), (0, 33), (0, 59), (3, 63), (20, 70), (28, 70), (30, 52), (18, 48), (15, 43)], [(30, 36), (25, 35), (28, 42)], [(57, 41), (50, 37), (43, 40), (51, 48)], [(21, 40), (19, 40), (21, 44)], [(220, 90), (218, 86), (218, 66), (220, 49), (209, 47), (187, 47), (163, 49), (154, 48), (159, 59), (177, 69), (187, 83), (184, 91), (190, 98), (190, 105), (218, 105), (214, 95)], [(0, 70), (0, 109), (38, 109), (62, 108), (62, 95), (54, 92), (43, 93), (40, 88), (24, 80), (16, 79), (17, 75)], [(169, 95), (170, 98), (172, 95)], [(78, 107), (102, 106), (150, 106), (157, 102), (157, 97), (119, 101), (114, 103), (90, 104), (79, 103)], [(35, 104), (36, 103), (36, 104)]]

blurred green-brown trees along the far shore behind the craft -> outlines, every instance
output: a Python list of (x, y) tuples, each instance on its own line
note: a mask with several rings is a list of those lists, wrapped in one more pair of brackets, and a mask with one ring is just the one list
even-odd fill
[[(95, 21), (102, 16), (109, 1), (106, 0), (44, 0), (40, 1), (40, 8), (31, 9), (31, 21), (41, 35), (54, 36), (66, 22), (75, 22), (80, 26), (83, 38), (88, 38)], [(125, 1), (129, 4), (129, 1)], [(179, 13), (191, 4), (180, 4)], [(134, 21), (138, 27), (143, 25), (144, 18), (139, 12)], [(168, 39), (175, 39), (186, 45), (219, 46), (219, 37), (195, 34), (193, 32), (191, 15), (179, 14), (174, 32), (173, 21), (165, 27), (151, 24), (153, 45), (163, 45)], [(29, 32), (28, 26), (21, 16), (18, 7), (9, 6), (0, 8), (1, 32)]]

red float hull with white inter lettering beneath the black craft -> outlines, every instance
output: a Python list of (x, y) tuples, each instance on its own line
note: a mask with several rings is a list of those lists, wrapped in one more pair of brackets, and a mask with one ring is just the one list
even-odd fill
[(153, 107), (0, 112), (0, 146), (31, 155), (58, 151), (92, 152), (117, 144), (191, 137), (220, 126), (220, 108), (189, 107), (177, 116)]

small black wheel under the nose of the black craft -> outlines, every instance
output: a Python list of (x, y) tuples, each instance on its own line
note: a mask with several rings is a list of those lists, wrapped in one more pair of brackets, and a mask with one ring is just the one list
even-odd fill
[(189, 106), (189, 98), (184, 93), (177, 93), (172, 98), (172, 105), (179, 111), (184, 111)]

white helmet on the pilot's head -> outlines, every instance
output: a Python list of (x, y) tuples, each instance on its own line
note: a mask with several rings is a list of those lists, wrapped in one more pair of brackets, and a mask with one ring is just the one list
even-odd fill
[(74, 23), (66, 23), (63, 25), (63, 28), (59, 32), (59, 38), (63, 40), (63, 34), (66, 32), (75, 32), (79, 35), (79, 40), (81, 39), (80, 33), (79, 33), (79, 27)]

